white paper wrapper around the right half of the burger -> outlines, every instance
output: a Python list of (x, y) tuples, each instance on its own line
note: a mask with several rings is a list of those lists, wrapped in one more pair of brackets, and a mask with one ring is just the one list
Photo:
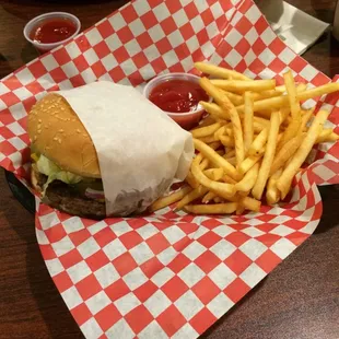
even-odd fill
[(107, 215), (144, 211), (188, 172), (191, 135), (137, 90), (101, 81), (62, 95), (97, 152)]

